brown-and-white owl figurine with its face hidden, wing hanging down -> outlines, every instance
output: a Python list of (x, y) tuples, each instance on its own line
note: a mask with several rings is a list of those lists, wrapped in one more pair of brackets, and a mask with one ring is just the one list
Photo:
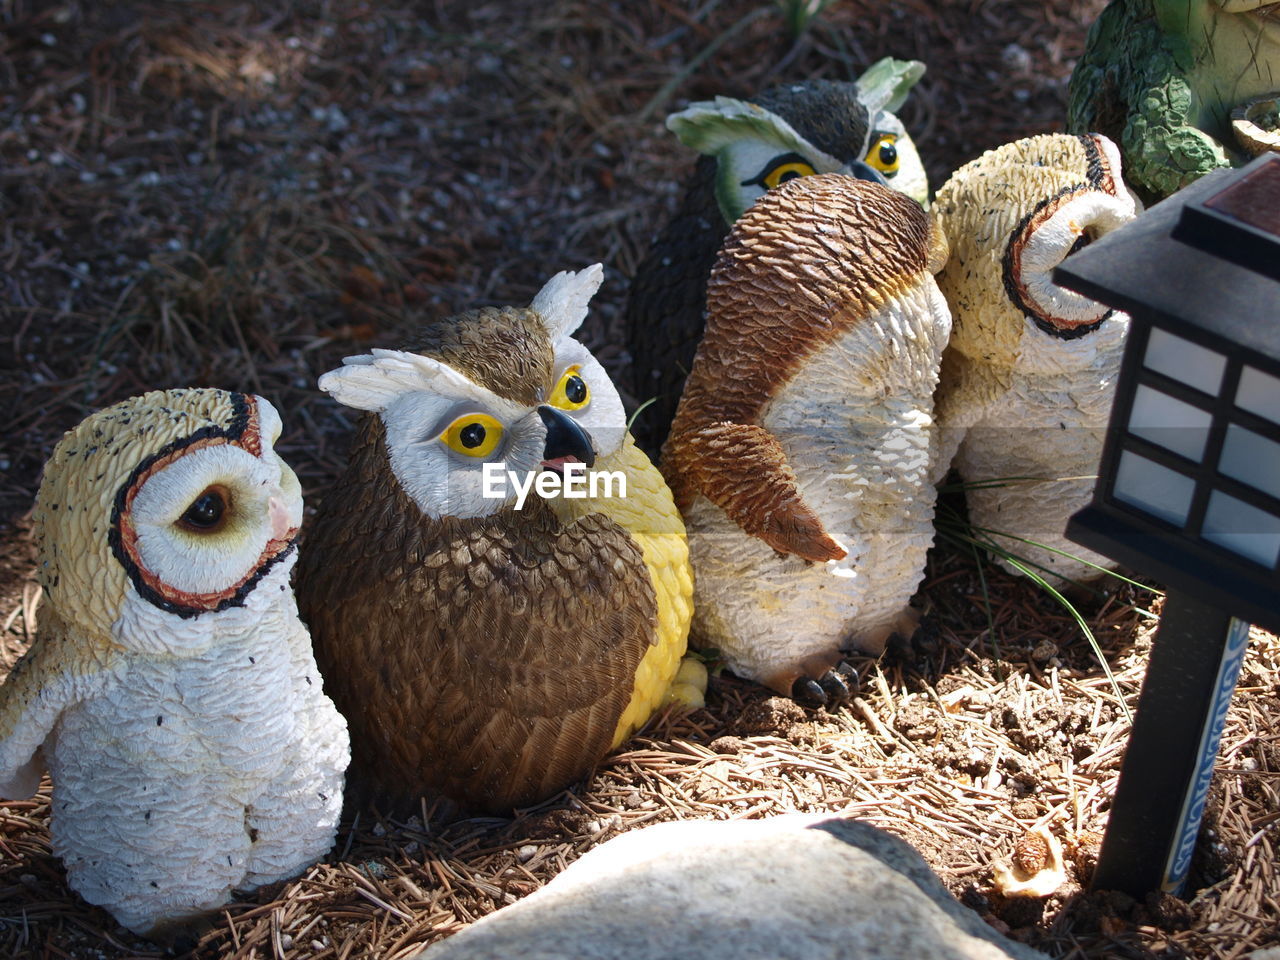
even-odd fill
[(694, 630), (805, 703), (847, 696), (841, 649), (908, 630), (933, 539), (946, 256), (910, 197), (804, 177), (748, 210), (663, 448), (689, 529)]

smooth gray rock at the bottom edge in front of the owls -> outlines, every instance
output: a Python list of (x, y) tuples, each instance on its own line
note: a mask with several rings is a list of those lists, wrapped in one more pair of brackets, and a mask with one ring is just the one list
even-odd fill
[(685, 820), (623, 833), (420, 960), (1044, 960), (856, 820)]

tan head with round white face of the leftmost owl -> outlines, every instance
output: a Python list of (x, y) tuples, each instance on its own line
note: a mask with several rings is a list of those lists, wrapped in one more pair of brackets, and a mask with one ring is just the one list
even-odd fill
[(302, 522), (279, 435), (265, 399), (215, 389), (146, 393), (69, 430), (35, 511), (55, 614), (109, 636), (129, 594), (182, 618), (243, 605)]

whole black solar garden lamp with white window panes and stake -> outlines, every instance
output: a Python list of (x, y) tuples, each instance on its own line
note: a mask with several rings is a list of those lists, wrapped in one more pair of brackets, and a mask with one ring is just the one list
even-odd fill
[(1280, 155), (1197, 180), (1055, 279), (1132, 317), (1068, 536), (1167, 588), (1092, 887), (1176, 893), (1249, 623), (1280, 631)]

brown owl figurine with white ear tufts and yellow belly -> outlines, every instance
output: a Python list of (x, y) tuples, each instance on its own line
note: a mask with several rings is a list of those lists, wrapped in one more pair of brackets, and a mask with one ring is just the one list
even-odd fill
[(438, 321), (320, 378), (367, 413), (298, 594), (366, 800), (509, 813), (581, 778), (668, 696), (687, 547), (571, 337), (602, 278), (558, 274), (529, 307)]

